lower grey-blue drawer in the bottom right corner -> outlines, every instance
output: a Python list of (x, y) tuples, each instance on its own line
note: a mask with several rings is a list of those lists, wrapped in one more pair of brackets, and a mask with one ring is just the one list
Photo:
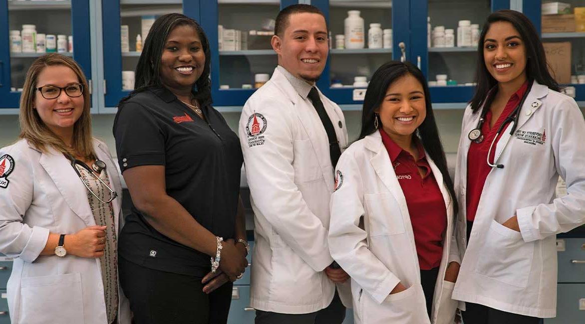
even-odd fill
[(546, 318), (545, 324), (585, 323), (585, 283), (559, 284), (556, 318)]

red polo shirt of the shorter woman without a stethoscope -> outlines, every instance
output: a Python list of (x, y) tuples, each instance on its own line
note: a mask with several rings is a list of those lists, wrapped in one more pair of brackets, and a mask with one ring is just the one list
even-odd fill
[[(417, 141), (418, 160), (415, 161), (385, 131), (380, 129), (380, 134), (406, 198), (419, 266), (421, 270), (431, 270), (441, 264), (447, 228), (445, 200), (421, 143)], [(419, 168), (424, 170), (424, 176), (418, 172)]]

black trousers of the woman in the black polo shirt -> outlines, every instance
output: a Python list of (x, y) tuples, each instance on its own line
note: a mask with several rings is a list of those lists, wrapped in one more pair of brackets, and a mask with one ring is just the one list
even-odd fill
[(120, 283), (135, 324), (225, 324), (232, 283), (205, 294), (202, 277), (153, 270), (118, 258)]

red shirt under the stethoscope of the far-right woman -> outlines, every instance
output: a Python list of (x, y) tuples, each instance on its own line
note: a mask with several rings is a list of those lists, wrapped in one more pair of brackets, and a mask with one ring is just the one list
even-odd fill
[[(473, 222), (475, 219), (477, 205), (479, 205), (479, 200), (481, 198), (481, 191), (483, 191), (487, 175), (491, 171), (491, 166), (487, 165), (487, 152), (490, 150), (491, 141), (494, 140), (495, 133), (498, 131), (501, 124), (504, 123), (504, 120), (510, 116), (512, 111), (514, 111), (514, 108), (520, 103), (526, 89), (528, 89), (528, 81), (524, 82), (520, 89), (510, 97), (503, 112), (500, 114), (500, 117), (495, 121), (494, 127), (491, 128), (490, 123), (492, 113), (491, 110), (489, 110), (486, 114), (486, 120), (484, 121), (483, 126), (481, 126), (481, 134), (484, 135), (483, 141), (481, 143), (472, 141), (472, 144), (469, 146), (469, 151), (467, 152), (466, 210), (467, 220), (470, 222)], [(500, 141), (502, 134), (504, 134), (504, 131), (505, 129), (498, 135), (498, 138), (495, 140), (493, 148), (491, 149), (491, 163), (494, 163), (495, 147), (498, 144), (498, 141)]]

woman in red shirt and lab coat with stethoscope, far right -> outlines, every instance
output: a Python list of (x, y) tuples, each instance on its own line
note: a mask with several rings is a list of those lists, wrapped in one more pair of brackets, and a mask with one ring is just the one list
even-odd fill
[[(477, 53), (455, 175), (465, 252), (453, 298), (465, 323), (536, 324), (556, 314), (555, 235), (585, 222), (585, 121), (522, 13), (488, 16)], [(559, 176), (568, 195), (555, 198)]]

